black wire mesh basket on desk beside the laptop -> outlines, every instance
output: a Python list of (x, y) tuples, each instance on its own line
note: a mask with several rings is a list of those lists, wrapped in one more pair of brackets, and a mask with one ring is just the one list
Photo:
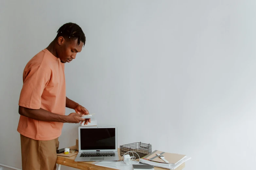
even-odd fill
[[(136, 143), (130, 143), (127, 145), (120, 146), (120, 155), (121, 156), (123, 156), (128, 151), (134, 151), (134, 152), (138, 153), (140, 158), (142, 158), (152, 152), (152, 145), (141, 143), (141, 142), (136, 142)], [(133, 153), (133, 155), (135, 156), (135, 159), (139, 159), (139, 157), (136, 153)], [(128, 153), (128, 154), (130, 156), (132, 156), (132, 153)]]

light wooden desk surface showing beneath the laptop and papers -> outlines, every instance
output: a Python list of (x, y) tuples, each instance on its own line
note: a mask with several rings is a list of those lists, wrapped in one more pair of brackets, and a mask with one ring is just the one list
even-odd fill
[[(73, 147), (69, 147), (69, 148), (74, 148)], [(118, 148), (118, 155), (119, 155), (119, 159), (122, 158), (122, 156), (120, 156), (120, 151)], [(103, 167), (103, 166), (97, 166), (94, 164), (94, 162), (75, 162), (77, 155), (71, 156), (71, 157), (67, 157), (67, 156), (59, 156), (57, 155), (57, 161), (56, 163), (58, 163), (59, 165), (65, 165), (65, 166), (69, 166), (72, 168), (77, 168), (77, 169), (82, 169), (82, 170), (116, 170), (113, 168), (108, 168), (108, 167)], [(175, 170), (181, 170), (185, 167), (185, 163), (182, 163), (178, 168), (176, 168)], [(167, 170), (164, 168), (159, 168), (159, 167), (155, 167), (155, 170)]]

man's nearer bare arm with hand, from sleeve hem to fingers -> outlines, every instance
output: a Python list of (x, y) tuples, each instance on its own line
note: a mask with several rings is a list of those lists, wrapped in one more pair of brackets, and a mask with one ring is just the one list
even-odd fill
[(19, 114), (22, 116), (26, 116), (28, 118), (34, 120), (41, 121), (57, 121), (62, 123), (79, 123), (80, 121), (84, 121), (85, 119), (81, 118), (83, 115), (78, 113), (70, 113), (68, 116), (59, 115), (56, 113), (51, 113), (42, 108), (40, 109), (30, 109), (26, 107), (19, 106)]

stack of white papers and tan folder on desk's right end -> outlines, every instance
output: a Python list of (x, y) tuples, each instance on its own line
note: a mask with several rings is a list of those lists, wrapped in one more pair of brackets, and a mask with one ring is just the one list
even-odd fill
[[(163, 155), (164, 159), (166, 159), (169, 163), (165, 163), (159, 156), (156, 155), (157, 153)], [(152, 153), (146, 155), (143, 159), (141, 159), (140, 162), (166, 169), (176, 169), (179, 165), (190, 159), (191, 157), (187, 157), (186, 155), (155, 150)]]

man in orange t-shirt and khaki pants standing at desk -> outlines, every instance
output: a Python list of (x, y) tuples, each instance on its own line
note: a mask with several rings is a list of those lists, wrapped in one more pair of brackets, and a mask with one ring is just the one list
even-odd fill
[[(66, 23), (50, 45), (35, 55), (23, 72), (19, 100), (23, 170), (56, 169), (56, 149), (63, 123), (88, 124), (88, 110), (66, 97), (64, 63), (71, 62), (85, 45), (85, 35), (75, 23)], [(65, 115), (65, 107), (76, 113)]]

